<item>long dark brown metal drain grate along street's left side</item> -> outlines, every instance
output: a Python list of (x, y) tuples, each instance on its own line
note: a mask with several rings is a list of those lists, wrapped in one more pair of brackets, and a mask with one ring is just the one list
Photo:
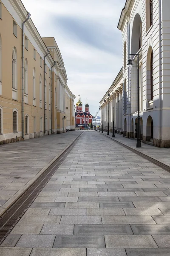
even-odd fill
[[(81, 135), (81, 134), (80, 134)], [(79, 135), (79, 136), (80, 136)], [(79, 138), (77, 137), (77, 139)], [(77, 143), (77, 139), (71, 144), (61, 156), (14, 202), (14, 204), (6, 210), (6, 212), (0, 217), (0, 244), (11, 232), (28, 207), (35, 200), (37, 195), (41, 192), (43, 187), (48, 183), (50, 178), (68, 156), (70, 151)]]

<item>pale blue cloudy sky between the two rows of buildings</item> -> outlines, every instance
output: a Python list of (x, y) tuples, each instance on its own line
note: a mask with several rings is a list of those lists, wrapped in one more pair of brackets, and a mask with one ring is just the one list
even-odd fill
[(122, 67), (122, 32), (117, 29), (125, 0), (22, 0), (41, 37), (55, 37), (68, 87), (95, 115)]

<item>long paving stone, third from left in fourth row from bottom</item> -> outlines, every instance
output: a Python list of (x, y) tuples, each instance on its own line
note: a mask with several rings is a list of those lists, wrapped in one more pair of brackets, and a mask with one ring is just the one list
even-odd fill
[(156, 224), (151, 216), (102, 216), (102, 224)]

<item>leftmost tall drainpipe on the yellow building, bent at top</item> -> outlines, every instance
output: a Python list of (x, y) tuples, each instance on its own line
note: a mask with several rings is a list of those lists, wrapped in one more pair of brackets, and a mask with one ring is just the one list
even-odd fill
[(22, 24), (22, 70), (21, 70), (21, 77), (22, 77), (22, 138), (24, 139), (24, 24), (29, 20), (31, 14), (28, 12), (27, 13), (28, 17), (26, 20), (23, 21)]

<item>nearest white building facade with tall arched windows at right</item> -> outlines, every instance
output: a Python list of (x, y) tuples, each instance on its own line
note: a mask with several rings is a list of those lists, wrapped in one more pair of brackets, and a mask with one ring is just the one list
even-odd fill
[[(141, 139), (144, 143), (157, 147), (170, 147), (169, 11), (169, 0), (126, 0), (118, 24), (118, 29), (122, 31), (123, 49), (123, 135), (127, 138), (136, 137), (138, 111), (136, 54), (139, 54)], [(130, 58), (134, 61), (131, 69), (127, 66)]]

